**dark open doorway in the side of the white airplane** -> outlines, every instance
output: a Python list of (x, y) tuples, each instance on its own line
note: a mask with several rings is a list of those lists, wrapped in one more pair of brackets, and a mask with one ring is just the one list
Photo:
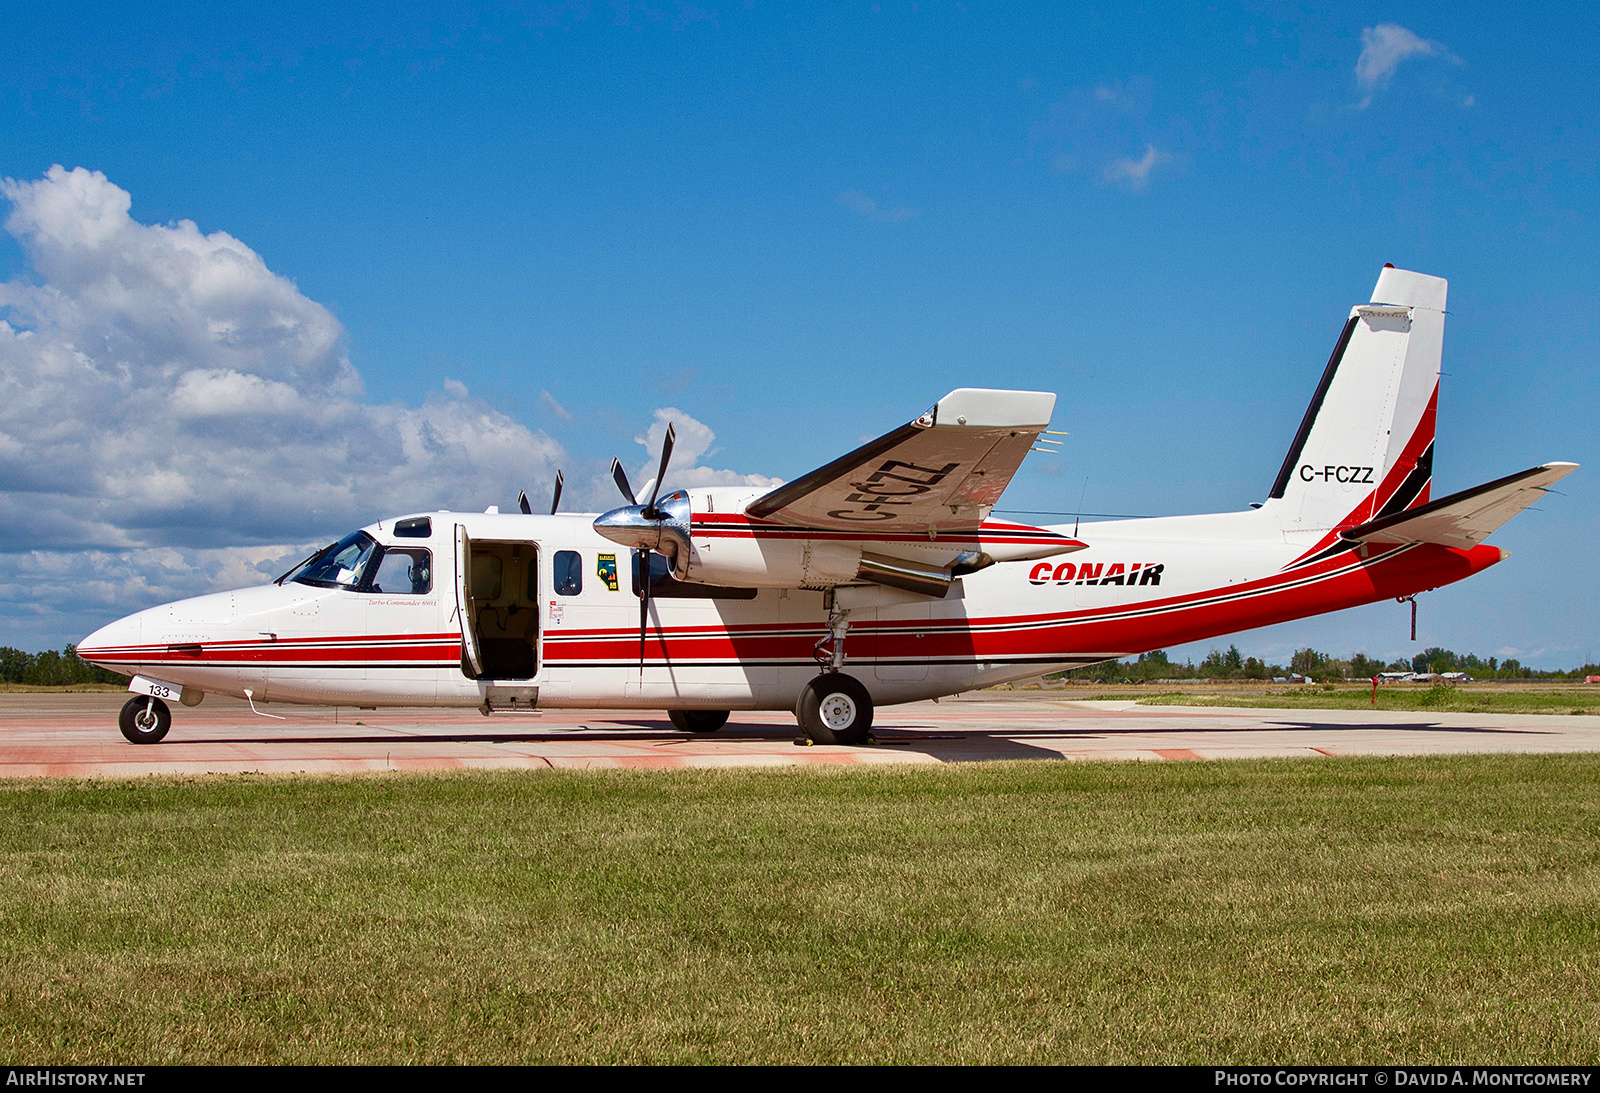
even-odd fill
[[(477, 679), (530, 680), (539, 674), (539, 549), (533, 542), (469, 541), (459, 557), (462, 621), (477, 648)], [(466, 669), (466, 666), (462, 666)]]

